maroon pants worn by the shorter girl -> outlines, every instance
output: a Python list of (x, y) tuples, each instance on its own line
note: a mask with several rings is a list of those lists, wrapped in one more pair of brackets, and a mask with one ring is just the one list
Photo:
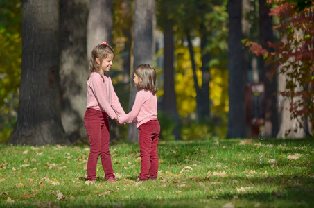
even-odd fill
[(158, 150), (160, 125), (158, 120), (148, 121), (139, 126), (139, 149), (141, 150), (142, 180), (156, 178), (158, 175)]

